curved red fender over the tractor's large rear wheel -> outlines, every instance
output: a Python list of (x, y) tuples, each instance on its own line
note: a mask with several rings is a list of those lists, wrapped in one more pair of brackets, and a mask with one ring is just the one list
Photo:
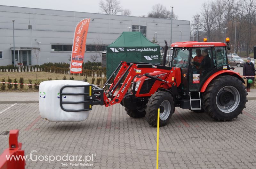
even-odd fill
[(240, 81), (242, 81), (243, 83), (244, 82), (244, 79), (240, 76), (240, 74), (238, 74), (237, 72), (233, 72), (231, 70), (221, 70), (221, 71), (218, 71), (214, 74), (212, 74), (205, 82), (204, 82), (204, 85), (202, 86), (200, 92), (204, 92), (207, 88), (207, 86), (209, 85), (209, 83), (217, 76), (219, 75), (223, 75), (223, 74), (227, 74), (227, 75), (230, 75), (230, 76), (235, 76), (236, 78), (238, 78)]

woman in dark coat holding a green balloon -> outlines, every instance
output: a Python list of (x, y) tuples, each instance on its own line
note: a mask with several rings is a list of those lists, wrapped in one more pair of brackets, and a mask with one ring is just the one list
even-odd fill
[[(255, 76), (255, 69), (254, 69), (254, 65), (251, 62), (251, 58), (247, 58), (247, 62), (244, 64), (243, 75), (244, 76)], [(252, 81), (254, 80), (254, 77), (246, 77), (246, 78), (252, 79)], [(250, 92), (250, 88), (251, 88), (251, 84), (248, 83), (248, 80), (247, 80), (246, 91)]]

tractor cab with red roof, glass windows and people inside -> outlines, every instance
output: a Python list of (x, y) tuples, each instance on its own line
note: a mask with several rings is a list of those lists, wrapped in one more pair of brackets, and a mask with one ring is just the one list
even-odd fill
[(220, 42), (173, 43), (170, 67), (180, 67), (179, 90), (184, 92), (184, 95), (200, 92), (208, 77), (218, 71), (229, 70), (226, 48), (227, 44)]

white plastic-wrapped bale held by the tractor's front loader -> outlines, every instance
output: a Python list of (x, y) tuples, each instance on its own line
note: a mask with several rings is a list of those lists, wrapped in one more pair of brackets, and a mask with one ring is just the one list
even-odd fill
[[(67, 85), (88, 85), (84, 81), (43, 81), (39, 86), (39, 112), (42, 118), (52, 122), (79, 122), (89, 116), (89, 111), (64, 111), (60, 108), (60, 88)], [(62, 93), (84, 93), (84, 87), (64, 88)], [(84, 95), (63, 95), (62, 102), (81, 102)], [(62, 104), (64, 109), (84, 109), (82, 104)]]

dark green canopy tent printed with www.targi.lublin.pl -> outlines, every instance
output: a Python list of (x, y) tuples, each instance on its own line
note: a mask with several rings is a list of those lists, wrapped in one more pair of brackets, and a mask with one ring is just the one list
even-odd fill
[(123, 32), (107, 46), (107, 78), (121, 61), (160, 64), (160, 46), (140, 32)]

